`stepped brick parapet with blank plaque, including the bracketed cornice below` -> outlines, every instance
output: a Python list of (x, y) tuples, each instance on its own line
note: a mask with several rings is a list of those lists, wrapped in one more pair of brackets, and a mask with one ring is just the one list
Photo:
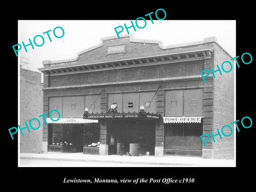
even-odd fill
[(44, 67), (39, 70), (44, 74), (75, 73), (207, 59), (211, 58), (211, 43), (215, 40), (208, 37), (200, 42), (163, 46), (160, 41), (134, 39), (133, 35), (106, 37), (99, 45), (79, 52), (76, 58), (43, 61)]

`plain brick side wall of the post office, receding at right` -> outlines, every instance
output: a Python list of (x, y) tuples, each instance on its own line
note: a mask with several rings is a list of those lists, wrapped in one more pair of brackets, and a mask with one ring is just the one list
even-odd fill
[[(224, 61), (230, 61), (229, 55), (224, 52), (221, 47), (214, 44), (214, 70), (217, 70), (217, 65), (221, 69), (221, 63)], [(219, 72), (214, 73), (216, 78), (214, 79), (214, 101), (213, 101), (213, 134), (217, 134), (217, 128), (221, 132), (221, 128), (224, 125), (230, 125), (234, 122), (234, 62), (233, 70), (230, 73), (225, 73), (221, 69), (222, 76)], [(226, 70), (230, 67), (227, 63), (224, 65)], [(229, 137), (222, 135), (222, 140), (219, 135), (214, 137), (216, 142), (213, 142), (214, 156), (213, 158), (221, 159), (234, 159), (234, 125), (230, 125), (233, 128), (233, 134)], [(229, 134), (228, 127), (224, 129), (225, 134)]]

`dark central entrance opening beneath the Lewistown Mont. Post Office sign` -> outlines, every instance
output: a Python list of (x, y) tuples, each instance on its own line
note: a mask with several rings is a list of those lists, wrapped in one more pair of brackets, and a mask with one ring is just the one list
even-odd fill
[[(109, 155), (129, 152), (138, 143), (139, 155), (155, 155), (155, 123), (145, 120), (108, 122)], [(122, 151), (121, 151), (122, 148)]]

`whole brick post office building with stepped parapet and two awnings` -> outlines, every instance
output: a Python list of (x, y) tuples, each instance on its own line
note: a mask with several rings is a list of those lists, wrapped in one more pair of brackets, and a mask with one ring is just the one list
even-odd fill
[(200, 74), (230, 58), (215, 37), (163, 46), (126, 35), (43, 61), (43, 113), (61, 114), (43, 124), (43, 151), (234, 158), (234, 134), (200, 138), (234, 121), (234, 72)]

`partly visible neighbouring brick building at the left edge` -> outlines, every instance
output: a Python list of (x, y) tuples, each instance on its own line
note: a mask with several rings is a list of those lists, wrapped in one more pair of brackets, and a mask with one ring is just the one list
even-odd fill
[[(20, 68), (20, 126), (43, 113), (43, 84), (41, 73)], [(38, 118), (42, 122), (41, 118)], [(37, 127), (37, 126), (35, 126)], [(43, 129), (23, 131), (20, 134), (21, 153), (42, 153)]]

